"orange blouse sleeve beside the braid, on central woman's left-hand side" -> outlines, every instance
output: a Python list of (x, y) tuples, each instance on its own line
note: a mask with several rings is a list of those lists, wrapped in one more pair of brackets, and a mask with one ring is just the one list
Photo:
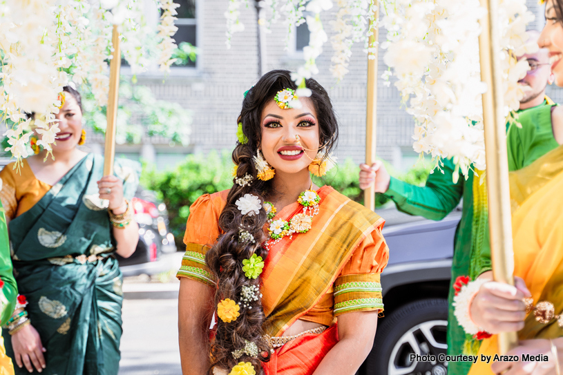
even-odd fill
[(221, 233), (219, 215), (225, 207), (225, 200), (225, 192), (204, 194), (190, 206), (184, 234), (186, 253), (176, 277), (191, 278), (215, 287), (213, 275), (205, 264), (205, 254)]

